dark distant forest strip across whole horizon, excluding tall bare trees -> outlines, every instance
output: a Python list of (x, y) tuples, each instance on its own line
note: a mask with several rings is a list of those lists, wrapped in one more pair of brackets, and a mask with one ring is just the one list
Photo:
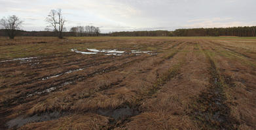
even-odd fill
[[(175, 31), (133, 31), (81, 34), (74, 28), (69, 32), (63, 32), (64, 36), (256, 36), (256, 26), (253, 27), (228, 27), (228, 28), (198, 28), (176, 29)], [(53, 31), (18, 31), (18, 36), (56, 36)], [(0, 36), (7, 36), (5, 30), (0, 30)]]

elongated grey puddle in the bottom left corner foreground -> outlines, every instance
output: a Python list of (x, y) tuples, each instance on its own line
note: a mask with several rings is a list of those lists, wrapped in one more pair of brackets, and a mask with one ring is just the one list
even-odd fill
[(51, 112), (51, 113), (44, 113), (41, 115), (34, 115), (34, 116), (19, 116), (18, 118), (12, 119), (9, 122), (7, 122), (7, 125), (10, 128), (18, 128), (22, 125), (26, 125), (27, 123), (33, 123), (33, 122), (45, 122), (48, 120), (56, 120), (62, 116), (66, 116), (66, 113), (60, 113), (60, 112)]

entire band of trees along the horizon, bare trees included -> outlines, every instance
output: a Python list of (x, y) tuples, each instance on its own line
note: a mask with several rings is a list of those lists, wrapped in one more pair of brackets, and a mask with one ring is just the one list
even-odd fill
[(45, 21), (48, 23), (46, 31), (27, 32), (20, 31), (22, 21), (17, 16), (2, 18), (0, 26), (1, 36), (4, 31), (10, 39), (13, 39), (19, 32), (22, 36), (256, 36), (256, 26), (253, 27), (227, 27), (227, 28), (196, 28), (196, 29), (176, 29), (175, 31), (133, 31), (133, 32), (110, 32), (100, 34), (100, 28), (94, 26), (72, 27), (69, 32), (65, 32), (65, 23), (62, 10), (50, 10)]

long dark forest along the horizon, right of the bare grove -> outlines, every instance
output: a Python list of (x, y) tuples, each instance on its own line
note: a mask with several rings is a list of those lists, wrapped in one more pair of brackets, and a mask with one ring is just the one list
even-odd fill
[(176, 29), (175, 31), (112, 32), (110, 36), (256, 36), (256, 26)]

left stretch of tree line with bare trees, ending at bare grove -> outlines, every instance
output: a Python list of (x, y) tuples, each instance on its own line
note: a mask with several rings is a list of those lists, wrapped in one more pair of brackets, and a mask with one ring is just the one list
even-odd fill
[[(22, 34), (26, 36), (39, 35), (39, 36), (58, 36), (58, 38), (63, 38), (65, 36), (99, 36), (100, 28), (94, 26), (78, 26), (72, 27), (70, 32), (65, 32), (65, 24), (67, 20), (64, 18), (62, 10), (50, 10), (48, 16), (45, 19), (48, 23), (46, 31), (39, 32), (27, 32), (21, 31), (21, 26), (24, 21), (22, 21), (18, 16), (12, 15), (9, 17), (4, 17), (0, 20), (0, 26), (2, 27), (1, 32), (5, 32), (10, 39), (14, 39), (17, 34)], [(54, 33), (52, 33), (54, 32)], [(3, 35), (2, 35), (3, 36)]]

